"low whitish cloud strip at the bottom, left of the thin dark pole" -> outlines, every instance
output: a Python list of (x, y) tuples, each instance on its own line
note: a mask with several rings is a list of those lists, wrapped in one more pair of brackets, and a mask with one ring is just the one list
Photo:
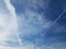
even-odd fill
[(21, 47), (4, 47), (0, 46), (0, 49), (34, 49), (34, 45), (26, 45)]

